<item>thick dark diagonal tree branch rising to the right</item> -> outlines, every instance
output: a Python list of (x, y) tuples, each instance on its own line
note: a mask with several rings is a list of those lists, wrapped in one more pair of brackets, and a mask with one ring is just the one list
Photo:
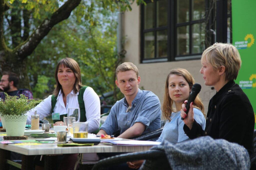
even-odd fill
[(21, 43), (14, 49), (14, 53), (17, 57), (23, 60), (30, 55), (40, 41), (50, 32), (51, 28), (59, 22), (67, 19), (72, 10), (75, 9), (80, 2), (81, 0), (68, 0), (52, 14), (50, 19), (46, 18), (25, 42)]

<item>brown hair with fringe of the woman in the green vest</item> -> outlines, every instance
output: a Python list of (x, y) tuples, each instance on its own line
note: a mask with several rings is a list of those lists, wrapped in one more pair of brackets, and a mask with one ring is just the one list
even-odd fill
[(80, 67), (74, 59), (63, 58), (58, 62), (57, 67), (55, 69), (56, 88), (53, 91), (53, 95), (57, 96), (59, 94), (59, 91), (62, 90), (62, 86), (61, 86), (60, 82), (58, 81), (58, 69), (61, 65), (63, 65), (64, 67), (70, 68), (73, 71), (73, 73), (76, 77), (76, 82), (74, 84), (73, 91), (74, 91), (74, 93), (77, 93), (80, 90), (80, 88), (83, 86), (82, 82), (81, 82)]

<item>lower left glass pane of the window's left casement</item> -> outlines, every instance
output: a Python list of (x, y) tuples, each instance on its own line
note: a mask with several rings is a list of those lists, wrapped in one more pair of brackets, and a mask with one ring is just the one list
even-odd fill
[(144, 35), (144, 58), (155, 58), (154, 34), (153, 32), (148, 32)]

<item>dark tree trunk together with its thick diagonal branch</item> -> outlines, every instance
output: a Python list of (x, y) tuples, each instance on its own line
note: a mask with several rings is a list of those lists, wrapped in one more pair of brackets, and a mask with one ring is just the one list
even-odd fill
[[(32, 54), (40, 41), (49, 33), (54, 25), (67, 19), (70, 16), (71, 11), (75, 9), (80, 4), (80, 2), (81, 0), (68, 0), (57, 11), (55, 11), (50, 18), (43, 20), (30, 36), (28, 36), (27, 30), (24, 30), (24, 35), (21, 37), (20, 18), (13, 17), (11, 22), (15, 21), (16, 23), (9, 23), (10, 26), (11, 24), (14, 24), (14, 27), (11, 27), (11, 31), (14, 33), (16, 30), (16, 35), (18, 35), (19, 38), (15, 36), (12, 38), (12, 46), (14, 49), (10, 49), (5, 44), (3, 28), (5, 11), (8, 10), (9, 6), (5, 0), (0, 0), (0, 72), (2, 73), (3, 71), (12, 71), (16, 73), (19, 76), (19, 88), (30, 89), (29, 79), (26, 71), (27, 56)], [(24, 10), (23, 15), (27, 14), (29, 14), (29, 12)], [(28, 25), (28, 17), (29, 16), (24, 17), (25, 29)], [(22, 39), (24, 40), (25, 38), (26, 40), (24, 42), (17, 43), (18, 41), (21, 41)]]

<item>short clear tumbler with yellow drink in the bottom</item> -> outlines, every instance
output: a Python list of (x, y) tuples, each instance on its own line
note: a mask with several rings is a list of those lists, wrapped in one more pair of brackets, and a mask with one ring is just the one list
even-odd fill
[(74, 136), (74, 138), (87, 138), (88, 137), (88, 122), (74, 122), (73, 123), (73, 136)]

